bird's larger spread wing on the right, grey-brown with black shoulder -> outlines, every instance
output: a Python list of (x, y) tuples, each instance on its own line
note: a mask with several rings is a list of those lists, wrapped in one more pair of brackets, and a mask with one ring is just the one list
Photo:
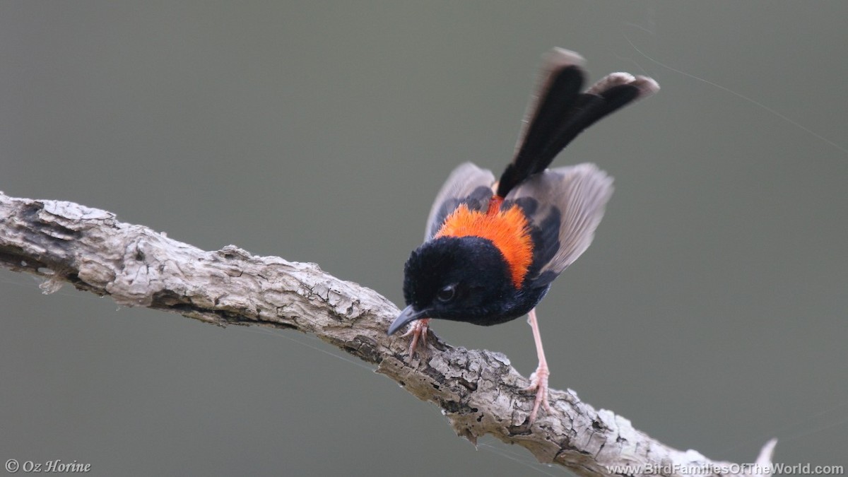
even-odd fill
[(531, 224), (529, 286), (549, 285), (589, 248), (611, 195), (612, 177), (588, 163), (545, 170), (510, 191), (501, 209), (519, 205)]

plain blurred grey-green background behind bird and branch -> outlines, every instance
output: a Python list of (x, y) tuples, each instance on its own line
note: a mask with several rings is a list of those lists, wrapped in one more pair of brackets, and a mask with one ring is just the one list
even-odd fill
[[(671, 446), (845, 464), (848, 3), (0, 3), (0, 190), (401, 304), (449, 171), (510, 154), (540, 55), (660, 82), (556, 165), (616, 177), (539, 308), (551, 386)], [(300, 334), (0, 271), (0, 458), (98, 475), (564, 474)], [(433, 323), (536, 365), (524, 320)], [(340, 356), (340, 357), (339, 357)]]

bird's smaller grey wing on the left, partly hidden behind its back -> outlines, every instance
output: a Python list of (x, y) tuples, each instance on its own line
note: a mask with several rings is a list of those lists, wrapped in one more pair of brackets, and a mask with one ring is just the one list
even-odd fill
[(442, 227), (444, 219), (460, 204), (466, 204), (471, 210), (485, 210), (488, 207), (488, 200), (494, 194), (493, 184), (492, 171), (480, 169), (471, 162), (457, 166), (450, 173), (448, 180), (444, 182), (442, 189), (436, 195), (436, 200), (432, 203), (430, 216), (427, 217), (424, 241), (432, 239), (439, 227)]

